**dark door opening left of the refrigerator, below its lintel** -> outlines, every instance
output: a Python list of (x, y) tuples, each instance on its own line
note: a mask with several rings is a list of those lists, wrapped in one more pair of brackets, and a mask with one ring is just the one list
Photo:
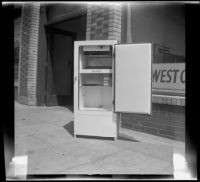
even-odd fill
[(48, 27), (46, 105), (73, 105), (73, 47), (76, 33)]

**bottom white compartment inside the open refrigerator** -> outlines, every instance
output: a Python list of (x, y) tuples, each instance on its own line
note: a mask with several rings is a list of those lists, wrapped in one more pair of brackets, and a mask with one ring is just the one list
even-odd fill
[(81, 86), (79, 109), (112, 111), (112, 87)]

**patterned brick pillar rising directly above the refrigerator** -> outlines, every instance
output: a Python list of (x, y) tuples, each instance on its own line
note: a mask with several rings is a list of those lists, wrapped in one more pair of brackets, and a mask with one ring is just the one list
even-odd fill
[(121, 17), (119, 5), (88, 5), (86, 39), (121, 41)]

